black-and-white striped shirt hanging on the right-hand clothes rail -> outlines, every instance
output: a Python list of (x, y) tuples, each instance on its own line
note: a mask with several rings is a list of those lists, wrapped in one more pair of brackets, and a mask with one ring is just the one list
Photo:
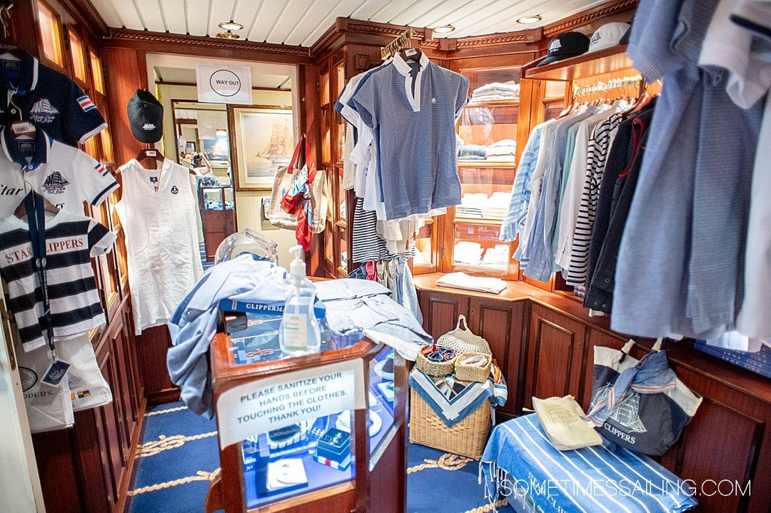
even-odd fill
[(608, 119), (594, 127), (589, 139), (586, 178), (581, 192), (581, 204), (578, 206), (578, 219), (573, 237), (571, 265), (567, 271), (567, 284), (584, 287), (589, 267), (589, 245), (594, 230), (594, 216), (597, 214), (597, 202), (600, 196), (600, 183), (605, 172), (608, 149), (611, 146), (611, 132), (621, 125), (624, 116), (614, 112)]

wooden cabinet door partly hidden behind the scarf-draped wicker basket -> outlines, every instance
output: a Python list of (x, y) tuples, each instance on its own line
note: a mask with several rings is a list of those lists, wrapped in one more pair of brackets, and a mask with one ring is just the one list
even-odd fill
[(469, 327), (490, 344), (493, 358), (506, 378), (509, 397), (501, 411), (510, 416), (521, 411), (517, 390), (522, 364), (524, 310), (525, 301), (470, 299)]

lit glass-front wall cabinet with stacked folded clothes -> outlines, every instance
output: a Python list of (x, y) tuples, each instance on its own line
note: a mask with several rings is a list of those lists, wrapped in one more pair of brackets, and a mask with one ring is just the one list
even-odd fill
[(520, 68), (461, 72), (471, 96), (456, 123), (461, 204), (444, 222), (442, 270), (516, 279), (516, 245), (499, 237), (517, 173)]

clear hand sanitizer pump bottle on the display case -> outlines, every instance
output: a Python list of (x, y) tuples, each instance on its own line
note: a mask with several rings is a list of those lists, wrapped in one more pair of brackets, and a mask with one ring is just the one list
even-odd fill
[(314, 311), (316, 287), (305, 277), (302, 246), (292, 246), (289, 253), (294, 260), (289, 266), (287, 300), (278, 331), (278, 343), (284, 354), (318, 353), (322, 335)]

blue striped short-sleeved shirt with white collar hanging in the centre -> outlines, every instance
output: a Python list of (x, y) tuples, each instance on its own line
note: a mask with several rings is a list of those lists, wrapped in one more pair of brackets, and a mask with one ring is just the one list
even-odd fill
[(375, 132), (387, 219), (460, 203), (455, 119), (468, 88), (468, 79), (423, 54), (411, 64), (397, 54), (359, 83), (351, 102)]

